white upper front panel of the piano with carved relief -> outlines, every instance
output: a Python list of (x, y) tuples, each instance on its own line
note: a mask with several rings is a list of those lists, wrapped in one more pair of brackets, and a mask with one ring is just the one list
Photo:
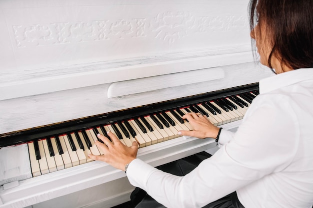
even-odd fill
[(1, 68), (28, 70), (249, 44), (247, 0), (53, 2), (0, 2)]

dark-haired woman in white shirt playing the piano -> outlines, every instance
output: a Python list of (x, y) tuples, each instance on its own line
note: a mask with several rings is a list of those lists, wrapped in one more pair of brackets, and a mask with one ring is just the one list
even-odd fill
[(311, 208), (313, 1), (251, 0), (250, 26), (260, 63), (276, 75), (260, 80), (260, 94), (237, 132), (214, 127), (202, 115), (183, 116), (194, 130), (181, 135), (220, 133), (222, 147), (212, 157), (189, 174), (174, 176), (136, 159), (136, 144), (127, 148), (112, 133), (113, 143), (98, 135), (106, 144), (96, 143), (104, 155), (89, 157), (126, 170), (133, 186), (165, 207), (213, 207), (210, 203), (228, 195), (235, 198), (232, 207)]

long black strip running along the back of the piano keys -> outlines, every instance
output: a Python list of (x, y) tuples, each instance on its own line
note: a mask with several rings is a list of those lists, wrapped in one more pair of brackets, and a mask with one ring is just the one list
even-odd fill
[(228, 97), (234, 94), (240, 94), (247, 91), (258, 90), (258, 83), (237, 86), (228, 89), (217, 90), (213, 92), (178, 98), (165, 102), (153, 103), (135, 108), (123, 109), (103, 113), (99, 115), (88, 116), (60, 123), (34, 127), (30, 129), (8, 132), (0, 134), (0, 147), (21, 144), (24, 142), (42, 139), (62, 133), (73, 132), (81, 129), (101, 124), (111, 124), (118, 121), (124, 121), (135, 117), (149, 115), (151, 113), (162, 112), (170, 109), (176, 109), (190, 104), (201, 103), (207, 100)]

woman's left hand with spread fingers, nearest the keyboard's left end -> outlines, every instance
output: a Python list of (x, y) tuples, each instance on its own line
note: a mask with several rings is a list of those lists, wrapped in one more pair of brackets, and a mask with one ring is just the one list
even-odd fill
[(103, 155), (96, 156), (89, 154), (88, 157), (92, 160), (106, 162), (114, 168), (125, 171), (125, 165), (130, 163), (137, 156), (137, 143), (132, 142), (132, 146), (127, 147), (122, 144), (113, 133), (107, 132), (107, 135), (112, 142), (101, 134), (98, 134), (97, 137), (102, 140), (104, 144), (99, 141), (94, 142), (95, 145), (103, 151)]

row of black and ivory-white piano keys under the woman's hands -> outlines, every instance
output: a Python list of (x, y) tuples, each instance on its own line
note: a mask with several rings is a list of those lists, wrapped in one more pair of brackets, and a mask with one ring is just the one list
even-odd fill
[[(55, 172), (91, 162), (88, 154), (102, 155), (94, 141), (98, 133), (114, 133), (126, 146), (137, 141), (138, 148), (146, 147), (178, 137), (179, 130), (192, 130), (182, 116), (188, 112), (201, 113), (215, 126), (242, 119), (257, 90), (240, 92), (187, 104), (177, 108), (132, 117), (125, 120), (95, 124), (64, 133), (47, 133), (48, 136), (28, 142), (32, 176)], [(57, 131), (57, 130), (56, 130)], [(59, 131), (62, 132), (62, 131)]]

